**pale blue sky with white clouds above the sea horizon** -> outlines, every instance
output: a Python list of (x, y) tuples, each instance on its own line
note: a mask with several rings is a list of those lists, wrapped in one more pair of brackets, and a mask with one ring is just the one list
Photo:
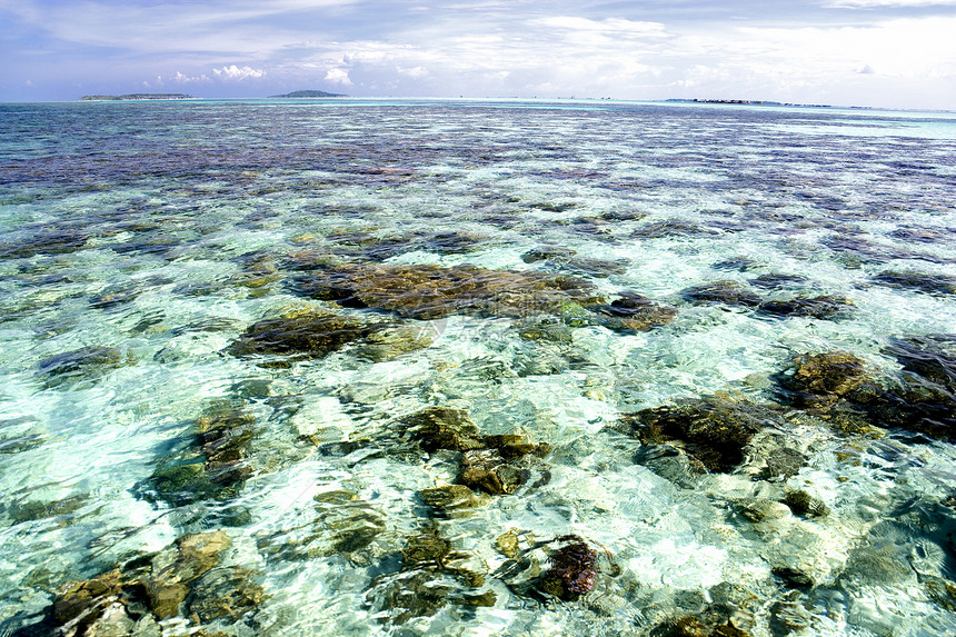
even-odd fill
[(956, 0), (0, 0), (0, 101), (300, 89), (956, 110)]

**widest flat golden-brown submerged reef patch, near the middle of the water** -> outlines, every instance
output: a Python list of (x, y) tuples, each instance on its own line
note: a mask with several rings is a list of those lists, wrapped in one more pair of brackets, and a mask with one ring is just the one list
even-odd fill
[(313, 298), (417, 319), (456, 313), (517, 318), (555, 312), (568, 301), (600, 300), (582, 279), (467, 266), (346, 263), (311, 271), (297, 289)]

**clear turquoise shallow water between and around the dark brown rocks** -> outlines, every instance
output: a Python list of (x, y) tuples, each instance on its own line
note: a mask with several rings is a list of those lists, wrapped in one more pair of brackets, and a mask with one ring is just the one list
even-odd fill
[[(68, 583), (225, 529), (221, 564), (250, 569), (263, 599), (209, 623), (181, 611), (162, 635), (644, 635), (708, 613), (754, 636), (953, 635), (953, 444), (840, 434), (791, 409), (733, 471), (680, 480), (643, 461), (616, 424), (718, 392), (776, 400), (775, 375), (806, 352), (849, 352), (894, 377), (893, 339), (956, 332), (956, 295), (874, 282), (887, 270), (956, 276), (954, 158), (946, 113), (0, 104), (0, 633), (42, 634)], [(685, 230), (653, 231), (664, 222)], [(448, 249), (427, 239), (437, 232), (467, 240)], [(542, 246), (618, 266), (522, 259)], [(677, 316), (649, 331), (571, 322), (565, 341), (529, 340), (507, 316), (396, 319), (308, 298), (290, 265), (303, 258), (568, 273)], [(754, 288), (764, 298), (836, 295), (853, 315), (774, 318), (680, 293), (770, 273), (804, 279)], [(435, 338), (378, 361), (360, 344), (286, 368), (230, 354), (250, 325), (301, 308)], [(51, 357), (93, 347), (114, 349), (50, 372)], [(179, 506), (145, 495), (222, 401), (255, 418), (240, 488)], [(437, 515), (418, 492), (454, 482), (457, 455), (409, 451), (396, 434), (431, 406), (467, 410), (482, 435), (549, 444), (532, 470), (550, 479)], [(760, 479), (753, 458), (779, 440), (805, 462)], [(829, 514), (740, 515), (787, 489)], [(329, 549), (356, 525), (374, 528), (362, 546)], [(424, 529), (467, 554), (484, 584), (428, 570), (448, 599), (402, 617), (382, 599), (415, 574), (401, 551)], [(518, 560), (496, 546), (511, 529)], [(591, 590), (561, 600), (516, 584), (568, 535), (599, 554)], [(490, 606), (461, 603), (488, 591)]]

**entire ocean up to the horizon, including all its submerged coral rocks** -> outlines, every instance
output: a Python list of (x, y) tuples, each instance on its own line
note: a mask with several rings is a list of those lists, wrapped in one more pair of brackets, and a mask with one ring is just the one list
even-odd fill
[(0, 104), (0, 635), (956, 634), (956, 115)]

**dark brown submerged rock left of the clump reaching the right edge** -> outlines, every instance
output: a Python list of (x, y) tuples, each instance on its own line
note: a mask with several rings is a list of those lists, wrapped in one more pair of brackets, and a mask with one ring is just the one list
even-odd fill
[(744, 460), (744, 449), (760, 429), (779, 424), (770, 406), (729, 397), (689, 399), (625, 414), (621, 422), (647, 445), (680, 441), (687, 454), (710, 471), (730, 471)]

